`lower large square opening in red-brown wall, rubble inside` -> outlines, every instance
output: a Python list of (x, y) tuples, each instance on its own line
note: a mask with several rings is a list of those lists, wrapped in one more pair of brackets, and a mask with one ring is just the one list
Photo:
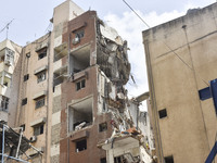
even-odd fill
[(79, 130), (92, 125), (92, 98), (68, 108), (68, 131)]

